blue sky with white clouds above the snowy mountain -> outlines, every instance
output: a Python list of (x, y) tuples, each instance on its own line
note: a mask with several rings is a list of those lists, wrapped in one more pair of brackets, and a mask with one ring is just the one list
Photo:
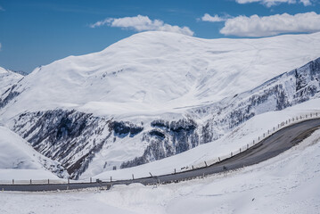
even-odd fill
[(144, 30), (203, 38), (311, 33), (320, 31), (318, 14), (316, 0), (0, 0), (0, 66), (30, 72)]

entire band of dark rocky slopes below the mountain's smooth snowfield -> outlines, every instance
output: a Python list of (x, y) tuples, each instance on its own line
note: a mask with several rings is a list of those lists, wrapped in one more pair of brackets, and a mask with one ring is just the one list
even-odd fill
[[(251, 91), (194, 108), (185, 119), (177, 121), (155, 119), (140, 126), (78, 111), (53, 110), (23, 113), (15, 119), (12, 129), (38, 152), (62, 162), (70, 175), (78, 178), (94, 157), (117, 138), (147, 144), (141, 156), (123, 162), (121, 168), (160, 160), (217, 140), (257, 114), (280, 111), (319, 97), (319, 81), (320, 58)], [(0, 100), (0, 105), (15, 97), (13, 89)], [(204, 117), (209, 119), (203, 120)], [(197, 119), (203, 122), (197, 123)]]

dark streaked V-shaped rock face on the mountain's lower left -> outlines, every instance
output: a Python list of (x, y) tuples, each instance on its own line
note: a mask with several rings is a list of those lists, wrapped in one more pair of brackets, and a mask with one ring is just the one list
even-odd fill
[(111, 121), (78, 111), (23, 113), (13, 130), (46, 157), (60, 161), (70, 176), (78, 178), (111, 136), (133, 137), (143, 128), (129, 122)]

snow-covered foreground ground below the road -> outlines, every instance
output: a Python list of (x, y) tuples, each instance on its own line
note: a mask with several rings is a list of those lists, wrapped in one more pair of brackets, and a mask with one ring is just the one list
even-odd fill
[(0, 192), (0, 213), (319, 213), (320, 131), (257, 165), (178, 184)]

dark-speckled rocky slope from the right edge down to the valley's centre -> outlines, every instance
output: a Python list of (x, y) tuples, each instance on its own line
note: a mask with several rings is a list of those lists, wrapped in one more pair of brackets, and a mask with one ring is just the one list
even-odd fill
[(267, 111), (281, 111), (289, 106), (320, 97), (320, 58), (267, 81), (257, 88), (234, 95), (213, 105), (193, 109), (189, 115), (211, 115), (204, 124), (193, 119), (176, 121), (154, 120), (152, 131), (144, 134), (150, 145), (144, 155), (124, 162), (121, 168), (133, 167), (185, 152), (199, 144), (217, 140), (227, 131)]

